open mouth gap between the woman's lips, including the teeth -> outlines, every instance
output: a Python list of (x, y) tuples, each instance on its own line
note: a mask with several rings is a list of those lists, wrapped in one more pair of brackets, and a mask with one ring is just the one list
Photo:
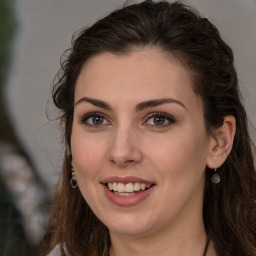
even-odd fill
[(136, 193), (150, 189), (154, 184), (147, 184), (141, 182), (108, 182), (104, 185), (117, 196), (132, 196)]

